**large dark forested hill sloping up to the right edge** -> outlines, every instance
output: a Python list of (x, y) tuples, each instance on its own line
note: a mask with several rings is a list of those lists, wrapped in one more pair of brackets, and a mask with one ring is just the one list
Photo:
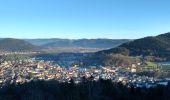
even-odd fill
[(130, 56), (142, 55), (170, 59), (170, 32), (129, 41), (117, 48), (100, 51), (98, 53), (117, 54), (117, 52)]

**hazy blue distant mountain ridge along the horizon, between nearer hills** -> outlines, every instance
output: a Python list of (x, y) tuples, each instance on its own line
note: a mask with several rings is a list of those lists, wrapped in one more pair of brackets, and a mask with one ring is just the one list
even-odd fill
[(82, 48), (112, 48), (128, 42), (128, 39), (26, 39), (26, 41), (43, 47), (82, 47)]

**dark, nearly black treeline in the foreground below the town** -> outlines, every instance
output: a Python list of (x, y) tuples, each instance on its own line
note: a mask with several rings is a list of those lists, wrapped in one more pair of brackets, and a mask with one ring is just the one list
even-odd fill
[(10, 84), (0, 89), (0, 100), (170, 100), (170, 84), (155, 88), (128, 88), (111, 80), (82, 83), (31, 81)]

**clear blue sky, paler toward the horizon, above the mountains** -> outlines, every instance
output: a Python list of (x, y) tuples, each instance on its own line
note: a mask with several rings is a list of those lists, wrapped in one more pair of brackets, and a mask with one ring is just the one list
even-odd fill
[(0, 0), (0, 38), (137, 39), (170, 31), (170, 0)]

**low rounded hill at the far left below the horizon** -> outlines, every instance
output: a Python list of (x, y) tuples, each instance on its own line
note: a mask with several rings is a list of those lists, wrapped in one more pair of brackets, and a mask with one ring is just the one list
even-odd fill
[(34, 51), (39, 47), (20, 39), (5, 38), (0, 40), (1, 51)]

